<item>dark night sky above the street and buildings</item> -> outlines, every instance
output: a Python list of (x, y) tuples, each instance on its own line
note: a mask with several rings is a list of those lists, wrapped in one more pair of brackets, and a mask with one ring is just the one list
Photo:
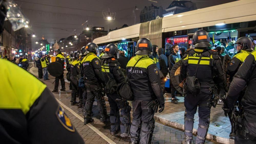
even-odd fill
[[(30, 33), (37, 37), (32, 39), (32, 47), (38, 39), (44, 36), (48, 42), (79, 35), (87, 25), (109, 29), (139, 23), (141, 9), (151, 4), (166, 9), (172, 0), (15, 0), (23, 13), (29, 18)], [(197, 9), (235, 0), (192, 0)], [(134, 14), (135, 6), (137, 10)], [(103, 19), (102, 11), (116, 12), (115, 20)], [(135, 19), (135, 16), (137, 17)], [(88, 20), (87, 23), (85, 23)], [(84, 24), (84, 27), (82, 24)]]

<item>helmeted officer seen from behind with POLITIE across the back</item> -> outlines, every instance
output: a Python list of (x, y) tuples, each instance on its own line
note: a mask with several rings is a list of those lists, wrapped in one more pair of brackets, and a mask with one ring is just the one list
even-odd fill
[(160, 85), (159, 69), (154, 60), (149, 58), (152, 45), (149, 39), (141, 38), (137, 42), (136, 56), (127, 64), (127, 77), (130, 78), (134, 100), (132, 101), (133, 120), (130, 128), (132, 144), (151, 142), (155, 127), (154, 114), (157, 101), (162, 112), (165, 108)]

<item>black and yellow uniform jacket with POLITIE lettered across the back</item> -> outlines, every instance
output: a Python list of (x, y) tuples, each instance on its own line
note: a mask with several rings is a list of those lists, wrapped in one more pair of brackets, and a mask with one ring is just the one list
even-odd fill
[[(136, 64), (135, 68), (132, 67)], [(127, 78), (130, 76), (130, 86), (135, 100), (147, 100), (156, 97), (159, 105), (165, 103), (160, 85), (159, 70), (154, 60), (145, 55), (136, 55), (131, 58), (126, 66)]]

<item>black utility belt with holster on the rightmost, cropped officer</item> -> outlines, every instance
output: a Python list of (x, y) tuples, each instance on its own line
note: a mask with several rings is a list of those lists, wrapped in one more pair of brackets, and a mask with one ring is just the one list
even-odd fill
[(245, 126), (245, 113), (247, 112), (244, 111), (243, 107), (239, 111), (232, 111), (231, 123), (234, 125), (234, 132), (238, 130), (239, 138), (256, 141), (256, 137), (250, 135), (248, 128)]

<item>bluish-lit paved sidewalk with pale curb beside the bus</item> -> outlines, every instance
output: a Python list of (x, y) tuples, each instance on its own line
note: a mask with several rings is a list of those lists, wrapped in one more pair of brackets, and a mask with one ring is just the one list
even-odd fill
[[(163, 122), (165, 124), (177, 127), (184, 130), (184, 97), (178, 97), (179, 103), (171, 103), (171, 96), (165, 96), (165, 110), (161, 113), (155, 114), (155, 119)], [(194, 116), (194, 128), (193, 133), (196, 134), (199, 124), (198, 111)], [(228, 117), (224, 116), (224, 112), (221, 105), (217, 105), (216, 108), (211, 108), (210, 115), (210, 126), (208, 130), (208, 139), (226, 143), (234, 144), (234, 139), (229, 138), (229, 133), (231, 131), (231, 125)]]

